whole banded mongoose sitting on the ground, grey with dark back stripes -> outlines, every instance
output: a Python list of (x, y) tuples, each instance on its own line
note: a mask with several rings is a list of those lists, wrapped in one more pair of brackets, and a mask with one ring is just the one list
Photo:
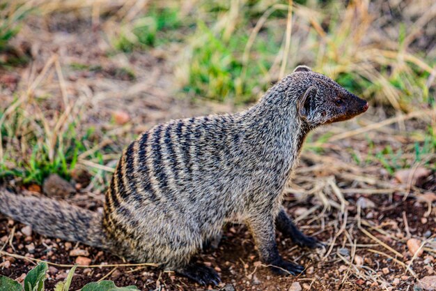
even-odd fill
[(140, 135), (123, 151), (102, 215), (8, 191), (0, 191), (0, 211), (40, 234), (155, 262), (201, 284), (220, 278), (194, 255), (226, 219), (242, 217), (260, 260), (274, 273), (299, 274), (303, 267), (277, 251), (276, 227), (300, 246), (318, 241), (282, 208), (283, 188), (310, 130), (367, 108), (325, 75), (298, 66), (248, 110), (173, 120)]

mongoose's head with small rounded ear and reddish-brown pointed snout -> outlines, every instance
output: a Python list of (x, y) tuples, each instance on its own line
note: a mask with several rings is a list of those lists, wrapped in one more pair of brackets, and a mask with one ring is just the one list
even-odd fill
[(311, 127), (352, 119), (368, 109), (366, 100), (309, 67), (297, 66), (291, 76), (304, 84), (297, 94), (297, 113)]

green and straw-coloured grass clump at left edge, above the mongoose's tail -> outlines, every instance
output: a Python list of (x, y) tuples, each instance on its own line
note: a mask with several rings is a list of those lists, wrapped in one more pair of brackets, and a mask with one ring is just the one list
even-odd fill
[(42, 184), (45, 177), (56, 173), (68, 179), (79, 155), (95, 145), (90, 140), (93, 128), (77, 133), (79, 106), (72, 109), (75, 113), (59, 112), (49, 121), (43, 114), (29, 114), (41, 112), (45, 100), (21, 101), (11, 103), (13, 110), (7, 109), (7, 114), (0, 113), (0, 178), (13, 175), (24, 184)]

